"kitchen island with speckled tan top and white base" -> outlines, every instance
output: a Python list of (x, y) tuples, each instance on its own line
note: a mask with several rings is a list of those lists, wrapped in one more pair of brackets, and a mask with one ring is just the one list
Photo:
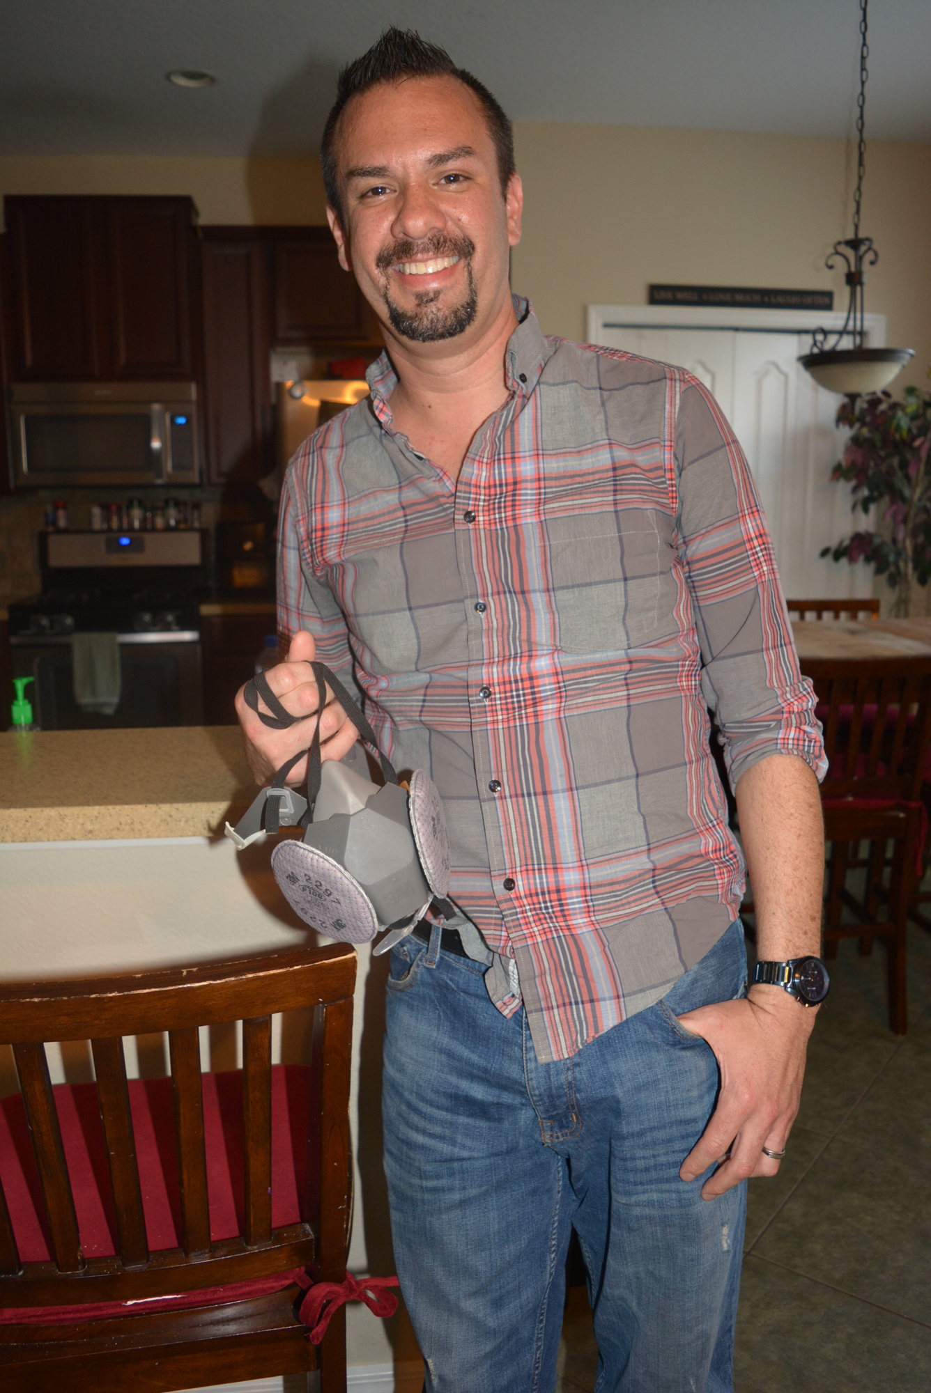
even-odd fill
[[(0, 734), (0, 979), (102, 975), (316, 943), (275, 883), (270, 843), (237, 853), (223, 837), (223, 823), (237, 820), (254, 793), (238, 726)], [(351, 1096), (355, 1273), (393, 1270), (380, 1172), (386, 971), (386, 960), (369, 960), (364, 946)], [(307, 1022), (277, 1020), (273, 1038), (276, 1059), (302, 1059)], [(213, 1068), (237, 1063), (226, 1032), (212, 1032), (203, 1048)], [(162, 1038), (130, 1038), (125, 1053), (130, 1074), (164, 1071)], [(49, 1063), (56, 1081), (92, 1077), (84, 1043), (49, 1046)], [(0, 1049), (0, 1095), (14, 1088), (10, 1052)], [(358, 1393), (392, 1382), (420, 1390), (410, 1326), (403, 1316), (393, 1323), (389, 1343), (383, 1322), (350, 1307), (350, 1387)]]

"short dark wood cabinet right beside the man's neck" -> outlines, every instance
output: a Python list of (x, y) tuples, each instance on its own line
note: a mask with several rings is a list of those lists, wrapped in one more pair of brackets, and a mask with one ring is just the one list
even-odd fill
[(277, 344), (369, 344), (375, 318), (339, 263), (329, 227), (280, 228), (272, 242), (273, 337)]

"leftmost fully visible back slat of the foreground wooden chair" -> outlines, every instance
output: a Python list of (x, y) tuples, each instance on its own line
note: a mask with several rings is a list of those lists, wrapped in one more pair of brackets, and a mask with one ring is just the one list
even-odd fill
[(52, 1236), (52, 1256), (59, 1272), (79, 1272), (84, 1256), (78, 1240), (78, 1219), (74, 1212), (45, 1045), (14, 1045), (13, 1057), (17, 1061), (22, 1103), (39, 1169), (39, 1184)]

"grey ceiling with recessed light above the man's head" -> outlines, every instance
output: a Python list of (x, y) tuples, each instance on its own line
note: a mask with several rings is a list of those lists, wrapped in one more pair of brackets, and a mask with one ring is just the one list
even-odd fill
[[(849, 135), (859, 0), (3, 0), (0, 155), (315, 152), (389, 24), (520, 121)], [(931, 141), (931, 0), (874, 0), (867, 131)], [(169, 68), (206, 68), (183, 89)]]

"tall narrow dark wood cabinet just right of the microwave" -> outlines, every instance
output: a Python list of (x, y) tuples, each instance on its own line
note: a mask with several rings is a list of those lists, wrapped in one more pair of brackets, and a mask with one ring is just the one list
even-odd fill
[(206, 482), (261, 479), (275, 467), (265, 248), (248, 227), (201, 240)]

